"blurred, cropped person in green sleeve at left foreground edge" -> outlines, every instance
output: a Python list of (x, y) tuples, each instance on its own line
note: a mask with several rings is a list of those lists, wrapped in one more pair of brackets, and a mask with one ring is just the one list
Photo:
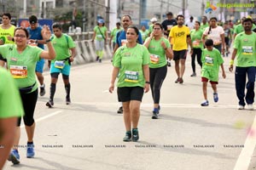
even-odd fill
[(2, 67), (0, 67), (0, 82), (0, 169), (3, 169), (15, 141), (17, 117), (23, 116), (24, 112), (15, 81)]

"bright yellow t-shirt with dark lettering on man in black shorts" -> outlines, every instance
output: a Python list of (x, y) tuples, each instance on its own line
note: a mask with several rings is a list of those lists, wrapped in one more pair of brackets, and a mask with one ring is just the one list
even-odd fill
[(169, 34), (169, 37), (172, 37), (172, 50), (180, 51), (183, 49), (188, 49), (187, 37), (189, 34), (190, 32), (188, 26), (173, 26)]

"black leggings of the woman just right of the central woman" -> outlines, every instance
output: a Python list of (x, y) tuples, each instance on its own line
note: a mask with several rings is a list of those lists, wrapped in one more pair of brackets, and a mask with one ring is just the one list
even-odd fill
[(154, 104), (160, 103), (160, 88), (166, 78), (166, 65), (160, 68), (149, 68), (149, 79)]

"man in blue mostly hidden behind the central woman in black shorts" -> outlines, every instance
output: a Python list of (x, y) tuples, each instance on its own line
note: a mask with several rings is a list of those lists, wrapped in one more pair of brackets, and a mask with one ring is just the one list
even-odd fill
[[(127, 39), (126, 39), (126, 31), (128, 29), (129, 26), (131, 26), (132, 24), (132, 21), (131, 21), (131, 16), (130, 15), (127, 15), (125, 14), (123, 17), (122, 17), (122, 26), (123, 26), (123, 30), (122, 31), (119, 31), (116, 35), (116, 43), (115, 43), (115, 46), (114, 46), (114, 49), (113, 49), (113, 54), (115, 53), (115, 51), (119, 48), (119, 47), (122, 47), (122, 46), (125, 46), (126, 42), (127, 42)], [(142, 34), (139, 32), (139, 35), (138, 35), (138, 42), (140, 44), (143, 44), (143, 37), (142, 37)], [(123, 105), (122, 105), (122, 102), (119, 100), (119, 110), (117, 111), (117, 113), (121, 114), (123, 113)]]

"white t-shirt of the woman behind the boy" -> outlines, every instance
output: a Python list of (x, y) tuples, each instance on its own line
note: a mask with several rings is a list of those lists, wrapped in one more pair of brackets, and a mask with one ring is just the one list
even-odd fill
[(209, 31), (209, 28), (210, 27), (207, 27), (203, 34), (206, 35), (208, 39), (212, 39), (214, 45), (219, 45), (221, 43), (220, 35), (224, 34), (223, 27), (217, 26), (216, 28), (211, 28), (211, 31)]

